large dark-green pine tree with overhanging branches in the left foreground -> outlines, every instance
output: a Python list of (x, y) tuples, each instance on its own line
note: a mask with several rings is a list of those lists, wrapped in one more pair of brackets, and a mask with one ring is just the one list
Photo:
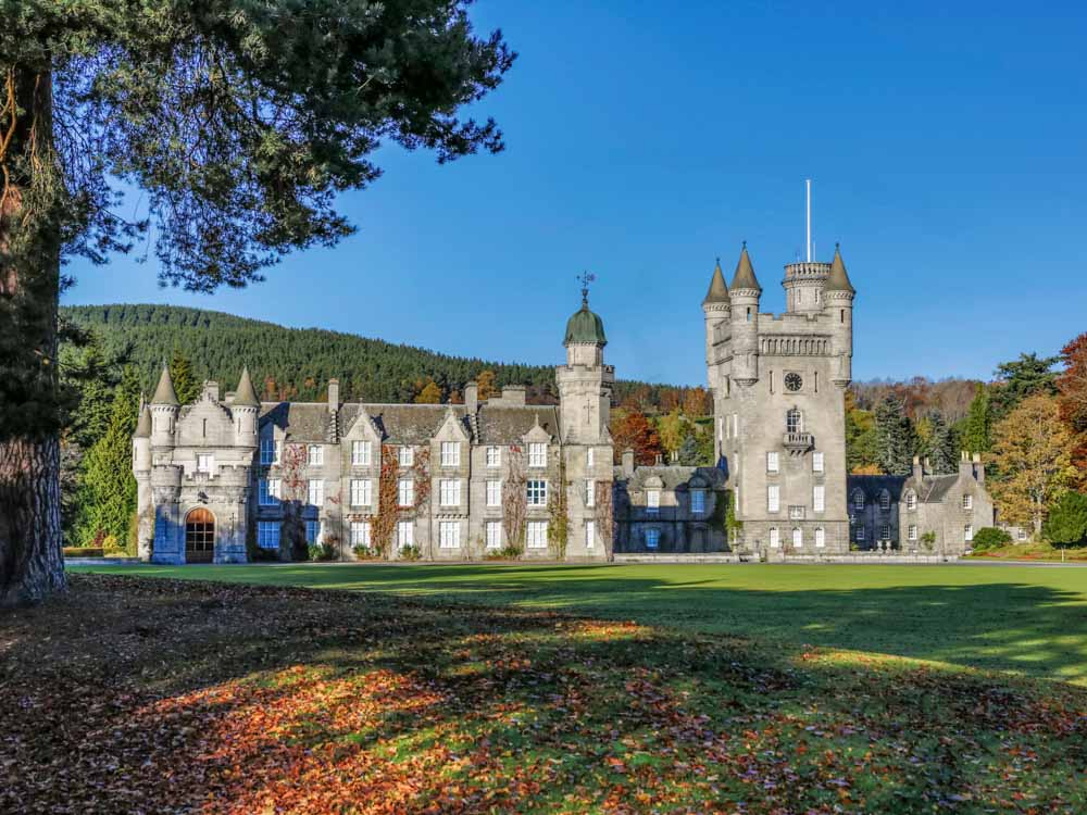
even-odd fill
[[(243, 287), (352, 227), (382, 140), (502, 149), (458, 118), (514, 54), (465, 0), (0, 0), (0, 604), (64, 587), (57, 305), (64, 260), (148, 240), (160, 279)], [(140, 190), (126, 217), (122, 189)]]

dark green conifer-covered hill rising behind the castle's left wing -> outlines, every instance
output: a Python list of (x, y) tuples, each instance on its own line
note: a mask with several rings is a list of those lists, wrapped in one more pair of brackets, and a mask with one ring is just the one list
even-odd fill
[[(458, 400), (465, 383), (490, 369), (499, 386), (526, 385), (530, 401), (555, 401), (551, 366), (449, 356), (352, 334), (287, 328), (175, 305), (74, 305), (63, 306), (61, 316), (93, 330), (107, 351), (130, 346), (130, 361), (148, 389), (163, 360), (180, 350), (198, 379), (215, 379), (224, 390), (234, 388), (241, 366), (248, 365), (265, 399), (320, 400), (328, 379), (338, 377), (343, 399), (410, 402), (433, 379), (443, 401)], [(659, 404), (664, 390), (672, 389), (623, 381), (616, 385), (616, 398), (623, 401), (638, 391)]]

